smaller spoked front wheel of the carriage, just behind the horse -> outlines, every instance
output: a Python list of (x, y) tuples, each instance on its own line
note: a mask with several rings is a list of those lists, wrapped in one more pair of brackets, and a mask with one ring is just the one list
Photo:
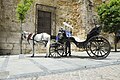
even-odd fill
[(64, 48), (61, 45), (50, 46), (49, 52), (50, 52), (49, 53), (50, 57), (58, 58), (58, 57), (61, 57), (63, 55)]

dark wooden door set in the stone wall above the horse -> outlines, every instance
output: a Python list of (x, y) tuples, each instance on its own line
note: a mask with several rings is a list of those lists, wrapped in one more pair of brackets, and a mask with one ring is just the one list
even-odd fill
[(46, 32), (51, 35), (51, 12), (38, 10), (37, 33)]

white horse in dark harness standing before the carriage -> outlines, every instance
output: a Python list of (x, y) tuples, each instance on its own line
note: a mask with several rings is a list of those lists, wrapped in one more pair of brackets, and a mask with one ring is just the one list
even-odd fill
[(46, 47), (46, 52), (47, 52), (46, 57), (49, 56), (49, 46), (50, 46), (49, 34), (47, 33), (35, 34), (35, 33), (23, 31), (22, 38), (27, 40), (32, 48), (33, 55), (31, 57), (34, 57), (34, 45), (36, 43), (43, 43)]

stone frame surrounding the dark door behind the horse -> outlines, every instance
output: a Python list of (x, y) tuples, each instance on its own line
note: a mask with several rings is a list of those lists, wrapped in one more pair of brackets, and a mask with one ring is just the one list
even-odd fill
[(38, 27), (38, 10), (51, 13), (51, 35), (56, 35), (56, 7), (36, 4), (35, 33), (37, 33)]

